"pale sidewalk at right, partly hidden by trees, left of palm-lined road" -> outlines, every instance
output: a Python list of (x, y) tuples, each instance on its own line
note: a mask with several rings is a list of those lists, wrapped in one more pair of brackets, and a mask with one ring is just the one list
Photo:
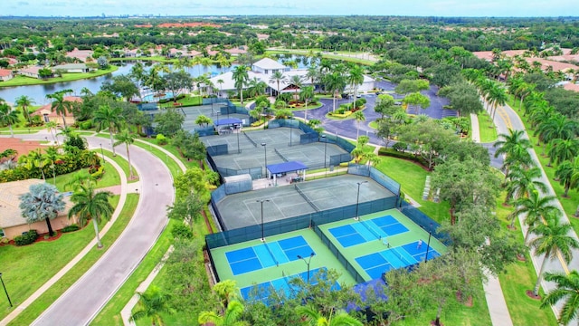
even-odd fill
[[(474, 113), (470, 113), (470, 134), (472, 141), (480, 142), (479, 117)], [(482, 283), (482, 286), (489, 307), (490, 321), (495, 326), (512, 326), (513, 321), (508, 313), (507, 302), (505, 302), (498, 277), (487, 272), (485, 274), (487, 275), (487, 282)]]

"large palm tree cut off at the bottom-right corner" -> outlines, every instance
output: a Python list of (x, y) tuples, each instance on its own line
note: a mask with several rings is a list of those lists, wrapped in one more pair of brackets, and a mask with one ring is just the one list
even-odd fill
[(579, 312), (579, 272), (576, 270), (565, 273), (545, 273), (545, 281), (555, 282), (557, 288), (546, 294), (541, 302), (541, 308), (555, 305), (565, 300), (563, 309), (559, 313), (558, 322), (568, 325), (577, 318)]

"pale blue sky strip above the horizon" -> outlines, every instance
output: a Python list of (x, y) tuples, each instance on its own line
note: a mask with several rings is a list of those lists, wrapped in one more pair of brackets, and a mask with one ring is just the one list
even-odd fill
[(0, 0), (0, 16), (95, 15), (578, 16), (577, 0)]

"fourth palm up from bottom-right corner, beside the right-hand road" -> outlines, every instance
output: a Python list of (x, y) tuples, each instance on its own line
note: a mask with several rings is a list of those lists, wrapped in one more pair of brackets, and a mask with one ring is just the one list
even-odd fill
[(511, 200), (528, 197), (528, 194), (535, 189), (546, 192), (547, 188), (545, 183), (538, 179), (541, 176), (542, 172), (540, 168), (524, 169), (513, 167), (508, 175), (509, 179), (505, 187), (507, 195), (504, 204), (508, 204)]

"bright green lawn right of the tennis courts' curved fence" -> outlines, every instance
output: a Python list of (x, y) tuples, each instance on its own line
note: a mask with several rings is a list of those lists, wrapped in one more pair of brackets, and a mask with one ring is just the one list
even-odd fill
[(449, 218), (450, 206), (446, 202), (434, 203), (422, 200), (422, 190), (426, 176), (430, 173), (418, 164), (400, 158), (381, 156), (377, 169), (384, 172), (388, 177), (402, 185), (402, 192), (412, 197), (420, 205), (422, 213), (430, 216), (433, 220), (441, 222)]

